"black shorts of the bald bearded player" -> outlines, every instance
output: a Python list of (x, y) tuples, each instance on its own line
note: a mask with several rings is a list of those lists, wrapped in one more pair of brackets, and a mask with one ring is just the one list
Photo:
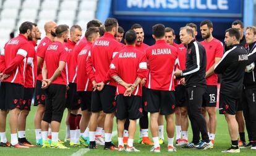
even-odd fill
[(39, 104), (45, 105), (45, 89), (41, 89), (42, 81), (36, 80), (36, 89), (35, 89), (35, 102), (34, 105)]

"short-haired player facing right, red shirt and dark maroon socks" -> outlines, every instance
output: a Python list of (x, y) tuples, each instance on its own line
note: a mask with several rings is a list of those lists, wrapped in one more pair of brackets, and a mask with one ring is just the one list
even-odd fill
[[(67, 81), (69, 89), (67, 90), (67, 100), (66, 100), (66, 108), (67, 117), (66, 117), (66, 125), (69, 126), (70, 129), (70, 146), (79, 146), (79, 136), (80, 136), (80, 118), (81, 114), (79, 112), (80, 109), (80, 99), (77, 94), (77, 61), (74, 56), (74, 46), (80, 40), (82, 36), (82, 28), (79, 25), (73, 25), (70, 28), (70, 37), (67, 39), (67, 43), (64, 45), (67, 47), (69, 55), (67, 57)], [(68, 122), (67, 122), (68, 121)], [(69, 129), (66, 129), (69, 131)]]

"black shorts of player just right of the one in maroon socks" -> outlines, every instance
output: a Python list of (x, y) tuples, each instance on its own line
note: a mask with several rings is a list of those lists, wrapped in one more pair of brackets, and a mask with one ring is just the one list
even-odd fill
[(81, 110), (91, 112), (92, 91), (78, 91)]

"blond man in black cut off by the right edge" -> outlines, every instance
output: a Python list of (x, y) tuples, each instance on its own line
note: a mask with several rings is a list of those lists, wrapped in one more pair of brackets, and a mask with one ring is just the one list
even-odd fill
[[(256, 63), (256, 27), (246, 28), (246, 43), (248, 44), (248, 62), (250, 65)], [(244, 73), (244, 89), (242, 92), (242, 109), (244, 112), (245, 125), (248, 133), (249, 144), (256, 149), (256, 68)]]

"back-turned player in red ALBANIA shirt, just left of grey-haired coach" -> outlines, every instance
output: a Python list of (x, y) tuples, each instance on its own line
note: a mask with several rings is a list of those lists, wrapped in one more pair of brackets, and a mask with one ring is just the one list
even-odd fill
[(145, 111), (150, 112), (150, 129), (154, 146), (151, 152), (160, 152), (158, 140), (158, 116), (166, 118), (168, 134), (168, 152), (175, 152), (173, 146), (175, 109), (174, 96), (174, 65), (177, 59), (177, 48), (166, 43), (164, 39), (165, 27), (162, 24), (153, 26), (153, 38), (156, 43), (146, 49), (149, 64), (149, 76), (145, 84), (147, 96)]

